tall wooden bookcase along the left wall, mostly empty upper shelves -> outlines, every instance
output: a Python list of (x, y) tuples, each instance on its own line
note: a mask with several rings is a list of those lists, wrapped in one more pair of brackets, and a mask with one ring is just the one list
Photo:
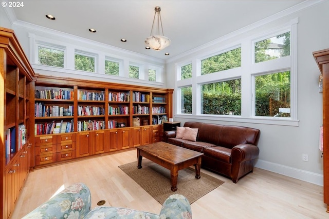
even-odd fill
[[(34, 166), (34, 72), (12, 30), (0, 27), (1, 218), (9, 218)], [(25, 127), (25, 129), (23, 129)]]

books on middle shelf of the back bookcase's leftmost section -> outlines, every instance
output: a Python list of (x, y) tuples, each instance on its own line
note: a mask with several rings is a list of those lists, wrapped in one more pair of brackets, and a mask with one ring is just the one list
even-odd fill
[(44, 103), (34, 104), (34, 116), (35, 117), (48, 117), (48, 116), (72, 116), (74, 112), (73, 105), (69, 105), (68, 108), (45, 105)]

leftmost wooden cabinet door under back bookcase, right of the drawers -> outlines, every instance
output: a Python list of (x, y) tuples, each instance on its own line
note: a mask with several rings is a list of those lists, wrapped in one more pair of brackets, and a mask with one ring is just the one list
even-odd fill
[(93, 133), (81, 132), (77, 136), (77, 157), (93, 154)]

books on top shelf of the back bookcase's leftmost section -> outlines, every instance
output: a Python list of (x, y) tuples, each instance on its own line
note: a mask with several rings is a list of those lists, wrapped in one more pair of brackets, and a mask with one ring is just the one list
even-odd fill
[(45, 90), (35, 90), (34, 94), (37, 99), (73, 99), (73, 90), (63, 90), (63, 89), (45, 89)]

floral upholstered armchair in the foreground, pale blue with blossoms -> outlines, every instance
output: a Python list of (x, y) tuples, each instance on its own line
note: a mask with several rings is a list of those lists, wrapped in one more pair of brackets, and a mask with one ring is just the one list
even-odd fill
[(169, 196), (159, 215), (117, 207), (97, 207), (92, 210), (91, 204), (88, 187), (83, 183), (76, 183), (25, 215), (23, 219), (192, 218), (190, 203), (180, 194)]

